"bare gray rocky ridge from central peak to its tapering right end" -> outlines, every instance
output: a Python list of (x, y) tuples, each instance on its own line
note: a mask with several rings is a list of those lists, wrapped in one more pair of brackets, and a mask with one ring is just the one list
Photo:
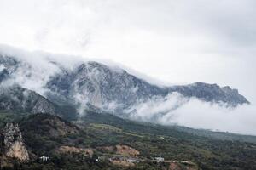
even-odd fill
[(221, 88), (217, 84), (196, 82), (185, 86), (158, 87), (126, 71), (114, 71), (107, 65), (88, 62), (73, 71), (63, 71), (47, 83), (50, 94), (61, 99), (90, 104), (101, 109), (122, 111), (148, 99), (166, 97), (177, 92), (184, 97), (195, 97), (202, 101), (236, 106), (248, 104), (245, 97), (236, 89)]

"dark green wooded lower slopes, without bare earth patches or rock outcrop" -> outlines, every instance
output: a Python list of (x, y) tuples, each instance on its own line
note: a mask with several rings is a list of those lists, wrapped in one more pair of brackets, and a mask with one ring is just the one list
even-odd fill
[[(12, 116), (1, 113), (1, 121)], [(14, 116), (13, 116), (14, 117)], [(156, 163), (154, 157), (169, 161), (192, 161), (201, 169), (256, 169), (256, 144), (212, 139), (185, 132), (177, 127), (164, 127), (132, 122), (108, 114), (88, 113), (79, 122), (68, 122), (58, 116), (36, 114), (15, 118), (32, 161), (17, 165), (20, 169), (168, 169), (170, 163)], [(76, 125), (74, 125), (76, 124)], [(134, 167), (118, 167), (108, 161), (116, 153), (98, 148), (128, 145), (140, 152)], [(92, 156), (81, 153), (58, 153), (60, 146), (90, 148)], [(38, 156), (49, 156), (46, 163)], [(96, 158), (102, 158), (96, 161)], [(180, 165), (182, 167), (182, 165)], [(185, 167), (184, 167), (185, 168)]]

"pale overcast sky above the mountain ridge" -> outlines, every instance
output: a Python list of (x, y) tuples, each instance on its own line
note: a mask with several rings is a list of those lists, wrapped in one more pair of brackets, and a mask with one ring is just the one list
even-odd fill
[(0, 43), (256, 96), (256, 1), (0, 0)]

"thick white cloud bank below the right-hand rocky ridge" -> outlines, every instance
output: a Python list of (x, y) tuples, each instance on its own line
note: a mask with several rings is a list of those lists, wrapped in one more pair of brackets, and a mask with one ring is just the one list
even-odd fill
[(169, 94), (166, 98), (150, 99), (133, 108), (131, 119), (204, 128), (230, 133), (253, 134), (256, 120), (255, 105), (239, 105), (236, 108), (187, 99), (181, 94)]

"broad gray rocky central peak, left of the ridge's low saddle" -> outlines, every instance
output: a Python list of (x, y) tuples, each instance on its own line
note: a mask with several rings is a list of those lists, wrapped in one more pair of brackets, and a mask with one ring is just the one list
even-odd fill
[(151, 85), (126, 71), (114, 71), (107, 65), (88, 62), (74, 71), (63, 71), (47, 84), (51, 93), (84, 104), (110, 107), (108, 104), (128, 107), (154, 95), (165, 95), (166, 89)]

